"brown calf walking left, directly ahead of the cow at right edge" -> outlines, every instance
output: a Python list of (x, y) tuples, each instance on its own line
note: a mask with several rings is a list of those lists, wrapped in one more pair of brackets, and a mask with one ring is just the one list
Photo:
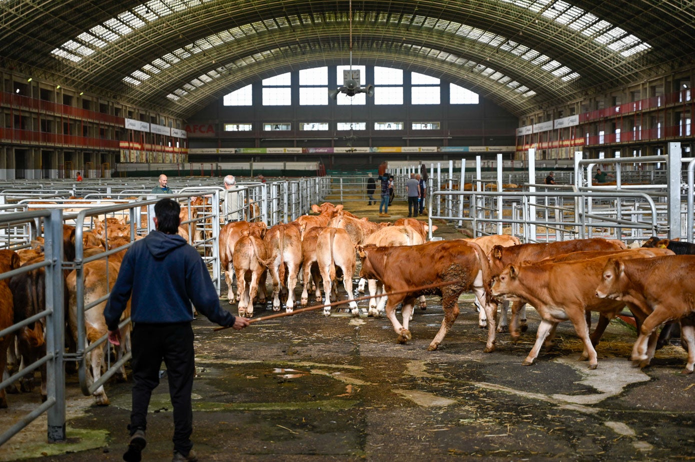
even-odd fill
[[(625, 258), (648, 258), (634, 251), (623, 255)], [(543, 343), (550, 346), (559, 322), (571, 320), (584, 343), (582, 359), (588, 358), (589, 368), (596, 369), (598, 357), (589, 338), (586, 312), (598, 311), (607, 319), (612, 319), (625, 306), (623, 302), (599, 299), (595, 294), (603, 267), (610, 258), (611, 255), (604, 255), (559, 263), (514, 263), (502, 270), (492, 288), (492, 294), (496, 297), (504, 295), (523, 299), (532, 304), (541, 317), (536, 343), (523, 365), (532, 365)]]

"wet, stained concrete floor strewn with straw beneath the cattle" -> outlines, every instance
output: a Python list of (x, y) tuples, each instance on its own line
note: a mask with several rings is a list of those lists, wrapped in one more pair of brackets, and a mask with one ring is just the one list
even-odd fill
[[(392, 218), (393, 219), (393, 218)], [(298, 291), (297, 291), (298, 293)], [(344, 296), (344, 294), (343, 294)], [(229, 306), (223, 295), (222, 306)], [(366, 304), (366, 302), (361, 302)], [(695, 377), (685, 352), (667, 347), (644, 370), (627, 361), (635, 332), (614, 321), (598, 346), (598, 369), (558, 328), (555, 349), (521, 365), (538, 326), (518, 343), (498, 336), (484, 354), (471, 295), (436, 352), (438, 297), (416, 309), (413, 340), (397, 345), (385, 318), (320, 310), (213, 331), (193, 323), (195, 450), (200, 461), (677, 461), (695, 457)], [(256, 307), (256, 317), (272, 314)], [(594, 319), (596, 322), (596, 319)], [(0, 461), (120, 461), (131, 383), (108, 383), (111, 406), (92, 406), (76, 376), (67, 388), (67, 443), (47, 444), (45, 418), (0, 447)], [(9, 395), (2, 427), (38, 403)], [(172, 458), (167, 380), (150, 407), (144, 461)]]

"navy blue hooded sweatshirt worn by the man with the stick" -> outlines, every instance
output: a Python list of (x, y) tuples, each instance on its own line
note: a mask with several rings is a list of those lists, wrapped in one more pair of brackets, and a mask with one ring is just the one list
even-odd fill
[(190, 322), (193, 303), (212, 322), (234, 324), (234, 315), (220, 307), (203, 259), (175, 234), (152, 231), (128, 249), (104, 308), (109, 330), (118, 328), (131, 293), (131, 320), (136, 323)]

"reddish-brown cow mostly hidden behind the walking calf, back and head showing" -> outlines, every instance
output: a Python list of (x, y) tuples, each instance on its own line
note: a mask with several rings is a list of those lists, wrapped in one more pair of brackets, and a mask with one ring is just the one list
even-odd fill
[[(559, 254), (569, 254), (573, 251), (619, 249), (621, 247), (616, 242), (610, 242), (603, 238), (561, 240), (546, 244), (521, 244), (512, 247), (496, 245), (489, 253), (489, 260), (492, 276), (497, 277), (510, 263), (534, 262)], [(521, 324), (523, 324), (521, 330), (527, 329), (524, 306), (525, 302), (523, 301), (514, 301), (512, 304), (512, 322), (509, 332), (514, 340), (519, 337), (518, 315), (520, 313)], [(502, 324), (507, 324), (507, 311), (505, 309), (502, 309), (500, 325)]]

